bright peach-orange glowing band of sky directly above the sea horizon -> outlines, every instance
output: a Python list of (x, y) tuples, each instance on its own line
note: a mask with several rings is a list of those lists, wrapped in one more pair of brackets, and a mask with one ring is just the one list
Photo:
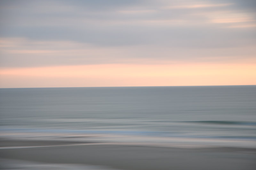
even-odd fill
[(255, 64), (99, 64), (2, 70), (6, 87), (254, 85)]

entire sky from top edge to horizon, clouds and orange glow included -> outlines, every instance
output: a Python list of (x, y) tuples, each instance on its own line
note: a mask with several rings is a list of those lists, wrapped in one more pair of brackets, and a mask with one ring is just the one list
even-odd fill
[(256, 85), (255, 0), (1, 0), (0, 88)]

